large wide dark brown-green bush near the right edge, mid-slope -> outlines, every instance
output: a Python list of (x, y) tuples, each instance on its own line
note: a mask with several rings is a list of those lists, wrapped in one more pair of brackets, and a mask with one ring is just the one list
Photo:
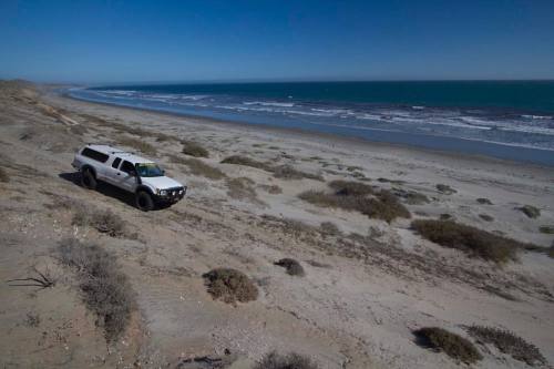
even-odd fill
[(515, 258), (519, 248), (533, 245), (502, 237), (472, 226), (452, 221), (413, 221), (412, 228), (424, 238), (444, 247), (459, 248), (470, 256), (496, 263)]

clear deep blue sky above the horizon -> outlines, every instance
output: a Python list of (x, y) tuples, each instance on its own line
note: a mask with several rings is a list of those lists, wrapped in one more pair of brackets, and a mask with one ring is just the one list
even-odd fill
[(554, 79), (554, 0), (1, 0), (0, 78)]

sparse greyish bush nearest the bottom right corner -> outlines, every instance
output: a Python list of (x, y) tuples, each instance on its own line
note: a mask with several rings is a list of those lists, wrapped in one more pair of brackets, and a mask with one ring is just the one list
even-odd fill
[(530, 366), (546, 363), (538, 348), (509, 330), (493, 327), (472, 326), (468, 332), (483, 344), (494, 345), (501, 352), (510, 355)]

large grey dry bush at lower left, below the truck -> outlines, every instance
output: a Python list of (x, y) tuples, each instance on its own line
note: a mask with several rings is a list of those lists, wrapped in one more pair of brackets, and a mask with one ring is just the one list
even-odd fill
[(114, 255), (94, 244), (80, 244), (75, 239), (60, 243), (60, 260), (76, 269), (83, 300), (99, 317), (109, 341), (124, 330), (135, 307), (127, 277), (121, 273)]

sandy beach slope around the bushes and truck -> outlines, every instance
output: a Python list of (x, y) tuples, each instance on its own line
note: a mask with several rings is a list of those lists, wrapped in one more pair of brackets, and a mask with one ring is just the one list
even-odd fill
[[(542, 352), (536, 366), (554, 363), (552, 167), (83, 102), (23, 82), (0, 88), (0, 277), (37, 269), (55, 279), (40, 290), (0, 285), (4, 366), (205, 368), (187, 360), (211, 357), (250, 368), (277, 350), (320, 368), (458, 368), (416, 342), (418, 328), (442, 327), (478, 345), (483, 358), (472, 367), (530, 368), (476, 342), (472, 325), (513, 331)], [(208, 157), (183, 154), (186, 142)], [(124, 194), (81, 187), (71, 162), (86, 143), (155, 160), (187, 185), (185, 198), (142, 213)], [(233, 155), (263, 164), (222, 163)], [(296, 172), (277, 175), (283, 168)], [(329, 192), (332, 181), (389, 191), (410, 217), (387, 222), (301, 197)], [(115, 214), (126, 236), (76, 225), (83, 209)], [(425, 239), (417, 219), (452, 219), (533, 247), (497, 264)], [(57, 258), (69, 237), (114, 255), (134, 291), (129, 325), (109, 345)], [(298, 260), (305, 276), (274, 265), (281, 258)], [(203, 275), (218, 267), (250, 277), (257, 299), (213, 299)]]

